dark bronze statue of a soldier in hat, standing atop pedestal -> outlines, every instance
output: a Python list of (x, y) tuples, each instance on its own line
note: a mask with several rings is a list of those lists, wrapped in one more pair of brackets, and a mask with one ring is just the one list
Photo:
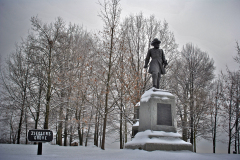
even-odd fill
[(152, 74), (152, 84), (153, 84), (153, 87), (157, 89), (159, 89), (161, 74), (166, 74), (165, 67), (168, 64), (167, 60), (165, 59), (163, 50), (159, 49), (160, 43), (161, 41), (159, 41), (157, 38), (155, 38), (151, 42), (151, 45), (154, 46), (154, 48), (151, 48), (148, 50), (147, 57), (145, 59), (145, 65), (144, 65), (144, 68), (147, 69), (148, 62), (151, 57), (152, 60), (150, 62), (148, 73)]

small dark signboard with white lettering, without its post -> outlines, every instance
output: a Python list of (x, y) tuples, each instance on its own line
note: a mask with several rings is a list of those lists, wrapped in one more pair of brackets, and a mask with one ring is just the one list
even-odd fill
[(50, 142), (53, 140), (53, 132), (47, 129), (29, 130), (28, 140), (33, 142)]

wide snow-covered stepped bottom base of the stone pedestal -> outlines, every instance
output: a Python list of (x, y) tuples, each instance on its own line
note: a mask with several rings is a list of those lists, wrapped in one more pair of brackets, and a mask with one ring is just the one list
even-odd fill
[(146, 151), (192, 151), (192, 144), (183, 141), (180, 137), (179, 133), (146, 130), (138, 132), (131, 142), (125, 144), (125, 148)]

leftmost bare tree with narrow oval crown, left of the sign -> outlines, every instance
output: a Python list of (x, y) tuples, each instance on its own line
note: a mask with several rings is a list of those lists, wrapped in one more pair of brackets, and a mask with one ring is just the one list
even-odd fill
[(25, 50), (27, 50), (27, 47), (24, 43), (16, 46), (16, 52), (7, 61), (8, 70), (2, 79), (8, 99), (15, 104), (11, 106), (20, 111), (17, 144), (20, 144), (23, 118), (27, 109), (28, 86), (30, 85), (30, 65)]

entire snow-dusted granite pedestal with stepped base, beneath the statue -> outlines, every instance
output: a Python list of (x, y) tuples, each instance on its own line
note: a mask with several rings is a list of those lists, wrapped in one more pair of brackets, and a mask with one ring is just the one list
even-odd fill
[(150, 89), (140, 101), (138, 133), (127, 149), (189, 150), (192, 144), (181, 139), (177, 133), (175, 97), (168, 91)]

